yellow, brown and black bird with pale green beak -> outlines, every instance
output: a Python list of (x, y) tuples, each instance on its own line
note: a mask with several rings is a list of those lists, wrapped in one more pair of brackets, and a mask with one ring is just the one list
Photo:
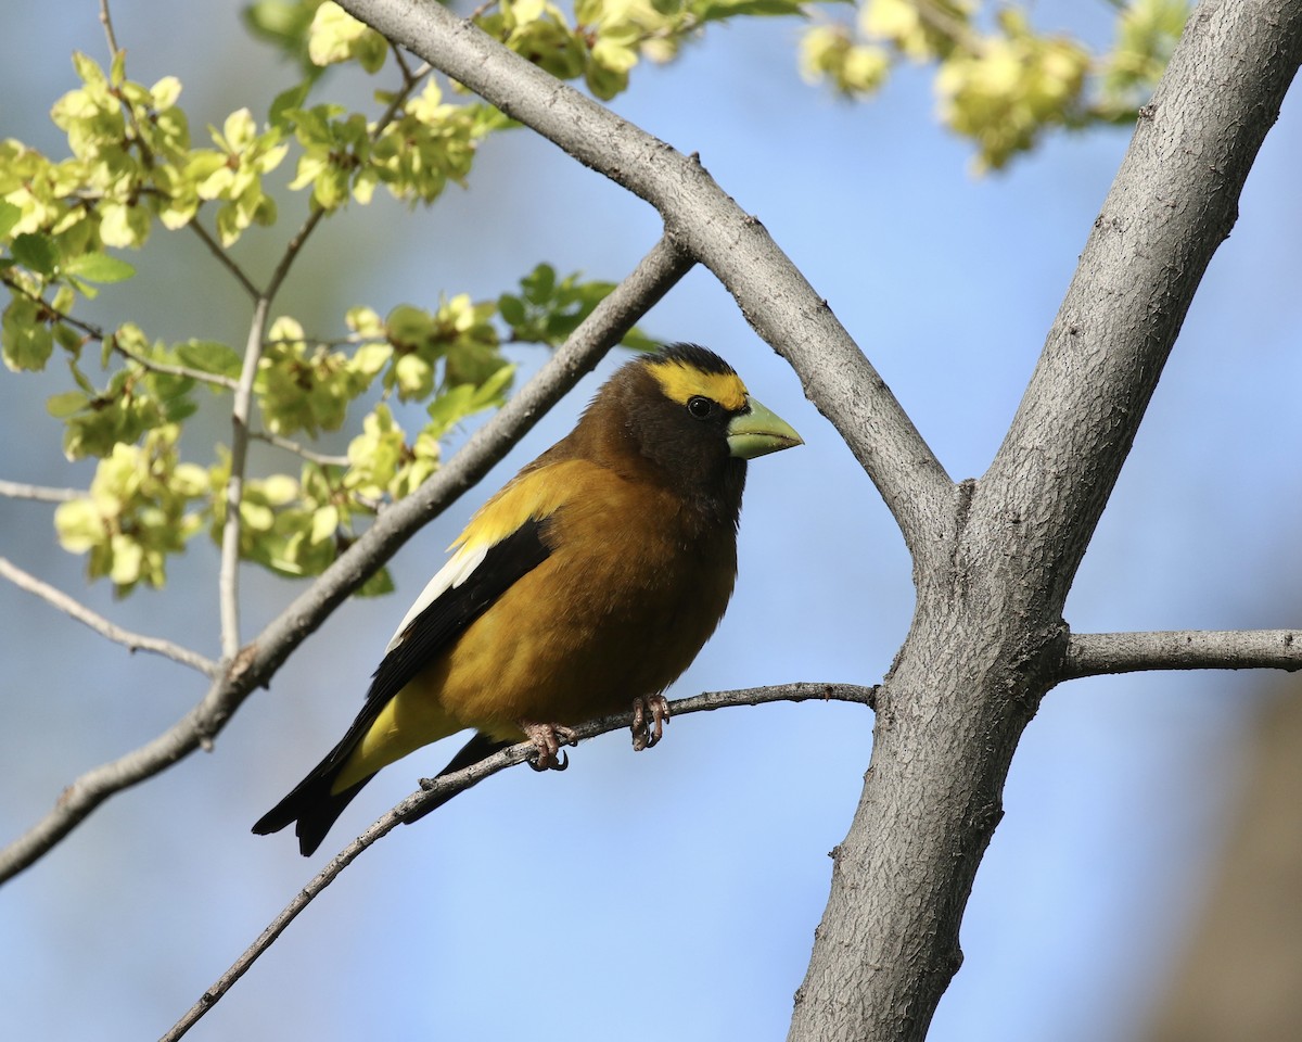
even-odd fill
[(630, 703), (634, 745), (654, 745), (661, 692), (732, 595), (746, 460), (798, 444), (704, 348), (624, 365), (470, 520), (348, 733), (253, 831), (297, 822), (311, 854), (376, 771), (471, 727), (443, 774), (525, 737), (535, 767), (562, 770), (566, 724)]

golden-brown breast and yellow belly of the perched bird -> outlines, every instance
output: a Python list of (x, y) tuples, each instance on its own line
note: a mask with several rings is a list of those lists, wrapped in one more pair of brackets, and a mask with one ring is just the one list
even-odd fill
[(551, 556), (384, 707), (333, 789), (464, 728), (518, 740), (521, 722), (581, 723), (667, 688), (723, 616), (736, 543), (730, 526), (689, 538), (665, 517), (621, 509), (609, 488), (568, 501)]

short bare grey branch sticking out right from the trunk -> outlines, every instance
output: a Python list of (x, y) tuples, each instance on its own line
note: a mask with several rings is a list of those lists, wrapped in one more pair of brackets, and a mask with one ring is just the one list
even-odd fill
[(1062, 679), (1141, 669), (1302, 669), (1298, 629), (1073, 633)]

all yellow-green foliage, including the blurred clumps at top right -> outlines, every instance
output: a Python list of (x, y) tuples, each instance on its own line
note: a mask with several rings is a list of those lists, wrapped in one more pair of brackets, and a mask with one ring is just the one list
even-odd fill
[[(609, 99), (643, 59), (674, 59), (711, 22), (809, 13), (797, 0), (496, 0), (475, 18), (540, 68)], [(875, 91), (900, 60), (934, 64), (941, 119), (976, 143), (980, 165), (1000, 167), (1047, 129), (1126, 119), (1186, 13), (1182, 0), (1131, 0), (1112, 53), (1092, 55), (1034, 30), (1010, 5), (992, 14), (976, 0), (861, 0), (852, 21), (811, 25), (799, 61), (849, 96)], [(180, 79), (146, 86), (128, 77), (125, 51), (107, 69), (77, 53), (74, 81), (51, 109), (66, 156), (0, 141), (0, 283), (9, 290), (0, 357), (14, 373), (56, 358), (66, 366), (66, 389), (48, 412), (62, 425), (68, 458), (98, 465), (89, 492), (59, 508), (56, 528), (69, 551), (86, 555), (91, 577), (120, 593), (161, 585), (167, 556), (195, 531), (221, 539), (232, 452), (185, 436), (204, 399), (229, 408), (241, 382), (251, 396), (240, 552), (286, 576), (316, 574), (378, 509), (439, 468), (449, 431), (503, 401), (513, 373), (504, 345), (559, 345), (612, 289), (540, 263), (495, 298), (449, 292), (384, 317), (345, 303), (263, 328), (273, 315), (268, 297), (250, 309), (247, 359), (229, 344), (165, 343), (132, 322), (100, 330), (83, 320), (85, 301), (134, 275), (121, 251), (145, 249), (160, 228), (202, 234), (221, 254), (217, 277), (236, 272), (256, 296), (224, 251), (246, 234), (271, 234), (258, 229), (279, 228), (281, 210), (296, 210), (289, 244), (344, 207), (370, 204), (379, 186), (430, 206), (449, 182), (466, 182), (484, 138), (513, 126), (410, 59), (389, 61), (388, 43), (331, 0), (254, 0), (245, 20), (302, 70), (264, 113), (240, 108), (197, 132), (197, 145)], [(326, 69), (341, 64), (389, 78), (375, 111), (316, 96)], [(277, 206), (267, 176), (281, 165), (292, 169), (292, 194)], [(286, 245), (285, 264), (302, 246)], [(625, 343), (651, 345), (635, 331)], [(406, 404), (404, 417), (410, 404), (423, 406), (418, 430), (404, 429), (396, 402)], [(344, 456), (294, 440), (345, 430)], [(367, 591), (388, 585), (381, 573)]]

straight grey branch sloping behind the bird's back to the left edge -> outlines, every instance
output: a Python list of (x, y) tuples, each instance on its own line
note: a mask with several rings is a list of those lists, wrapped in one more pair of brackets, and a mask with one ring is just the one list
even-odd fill
[(47, 853), (104, 800), (172, 766), (212, 739), (258, 686), (397, 552), (431, 517), (473, 487), (527, 434), (566, 391), (589, 373), (687, 271), (691, 259), (661, 238), (637, 268), (603, 300), (539, 373), (480, 427), (448, 464), (415, 492), (381, 513), (230, 663), (203, 699), (168, 731), (126, 755), (87, 771), (69, 785), (31, 830), (0, 851), (0, 882)]

